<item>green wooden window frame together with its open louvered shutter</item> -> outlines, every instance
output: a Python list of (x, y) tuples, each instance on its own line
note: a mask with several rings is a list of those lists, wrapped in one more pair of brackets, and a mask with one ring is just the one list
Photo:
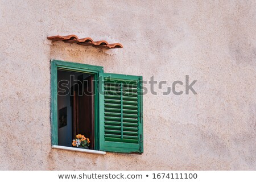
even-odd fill
[(143, 153), (142, 76), (104, 73), (103, 67), (51, 60), (51, 136), (58, 145), (57, 70), (94, 76), (94, 150)]

